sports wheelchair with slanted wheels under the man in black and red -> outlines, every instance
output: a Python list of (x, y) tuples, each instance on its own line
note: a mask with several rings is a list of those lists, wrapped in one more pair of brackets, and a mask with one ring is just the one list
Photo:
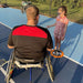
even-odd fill
[(11, 54), (7, 65), (7, 75), (6, 75), (7, 83), (10, 83), (10, 80), (11, 80), (10, 72), (11, 72), (12, 65), (14, 65), (13, 69), (14, 68), (25, 69), (25, 70), (30, 69), (30, 83), (32, 83), (32, 69), (33, 68), (43, 69), (46, 66), (51, 81), (52, 82), (54, 81), (54, 72), (53, 72), (53, 66), (51, 64), (50, 55), (46, 55), (42, 62), (35, 63), (34, 60), (25, 60), (25, 59), (22, 60), (22, 59), (14, 58), (14, 55)]

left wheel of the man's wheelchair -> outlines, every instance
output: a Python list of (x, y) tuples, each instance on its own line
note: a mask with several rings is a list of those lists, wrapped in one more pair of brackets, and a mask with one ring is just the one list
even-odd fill
[(12, 64), (13, 64), (13, 54), (10, 55), (9, 62), (8, 62), (8, 66), (7, 66), (7, 75), (6, 75), (6, 82), (9, 83), (10, 82), (10, 77), (11, 77), (11, 69), (12, 69)]

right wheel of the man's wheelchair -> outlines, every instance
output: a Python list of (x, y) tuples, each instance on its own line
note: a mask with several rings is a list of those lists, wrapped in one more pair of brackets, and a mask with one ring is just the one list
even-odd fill
[(51, 60), (50, 60), (49, 55), (45, 58), (45, 61), (46, 61), (46, 69), (48, 69), (50, 79), (53, 82), (54, 81), (54, 72), (53, 72), (53, 66), (51, 64)]

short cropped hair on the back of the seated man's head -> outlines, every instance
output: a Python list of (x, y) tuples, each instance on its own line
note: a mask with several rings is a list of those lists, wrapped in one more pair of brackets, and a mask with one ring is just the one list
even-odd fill
[(29, 6), (27, 8), (27, 18), (35, 20), (39, 15), (39, 9), (35, 6)]

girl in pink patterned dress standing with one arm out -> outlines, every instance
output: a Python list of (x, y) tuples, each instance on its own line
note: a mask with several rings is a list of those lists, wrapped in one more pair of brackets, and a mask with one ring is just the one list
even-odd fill
[[(55, 27), (54, 29), (54, 39), (55, 39), (55, 50), (60, 50), (61, 41), (64, 40), (69, 20), (66, 18), (66, 7), (61, 6), (58, 10), (59, 15), (56, 17), (56, 22), (48, 28)], [(59, 45), (59, 46), (58, 46)]]

